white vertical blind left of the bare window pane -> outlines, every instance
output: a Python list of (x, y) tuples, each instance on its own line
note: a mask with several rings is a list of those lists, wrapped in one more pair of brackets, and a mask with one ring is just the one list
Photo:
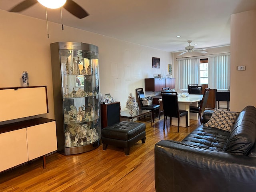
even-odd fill
[(188, 84), (200, 84), (200, 59), (185, 59), (179, 61), (178, 82), (180, 90), (187, 89)]

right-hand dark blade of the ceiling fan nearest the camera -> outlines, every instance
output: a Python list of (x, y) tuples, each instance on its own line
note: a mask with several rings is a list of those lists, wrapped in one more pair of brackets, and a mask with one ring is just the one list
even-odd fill
[(89, 16), (89, 14), (73, 0), (67, 0), (63, 8), (80, 19)]

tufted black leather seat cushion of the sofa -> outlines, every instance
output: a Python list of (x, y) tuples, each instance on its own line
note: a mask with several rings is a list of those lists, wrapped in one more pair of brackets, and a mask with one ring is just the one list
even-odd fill
[(200, 125), (182, 143), (198, 148), (222, 151), (230, 132)]

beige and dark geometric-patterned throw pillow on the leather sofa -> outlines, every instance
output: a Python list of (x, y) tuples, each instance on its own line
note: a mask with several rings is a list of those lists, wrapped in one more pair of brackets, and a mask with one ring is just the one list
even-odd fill
[(231, 131), (239, 113), (222, 109), (214, 109), (210, 120), (204, 124), (206, 127), (216, 127), (225, 131)]

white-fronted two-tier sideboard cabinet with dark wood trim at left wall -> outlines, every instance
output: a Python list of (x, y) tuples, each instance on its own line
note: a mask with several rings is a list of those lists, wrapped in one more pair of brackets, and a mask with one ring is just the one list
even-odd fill
[[(45, 155), (57, 150), (55, 120), (36, 118), (48, 112), (46, 86), (0, 88), (0, 100), (0, 122), (8, 122), (0, 125), (0, 172), (38, 157), (45, 168)], [(35, 118), (22, 120), (28, 116)]]

